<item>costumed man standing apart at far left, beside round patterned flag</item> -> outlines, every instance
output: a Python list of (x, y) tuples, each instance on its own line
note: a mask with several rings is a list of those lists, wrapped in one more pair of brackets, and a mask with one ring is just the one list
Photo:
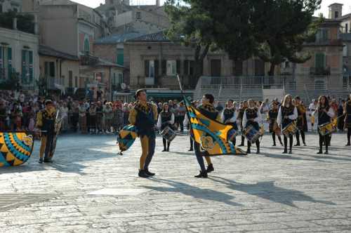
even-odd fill
[[(55, 135), (56, 109), (51, 100), (45, 101), (45, 108), (37, 114), (37, 125), (41, 131), (41, 145), (39, 151), (39, 163), (51, 163), (51, 149)], [(45, 153), (45, 157), (44, 157)], [(44, 159), (43, 159), (44, 157)]]

